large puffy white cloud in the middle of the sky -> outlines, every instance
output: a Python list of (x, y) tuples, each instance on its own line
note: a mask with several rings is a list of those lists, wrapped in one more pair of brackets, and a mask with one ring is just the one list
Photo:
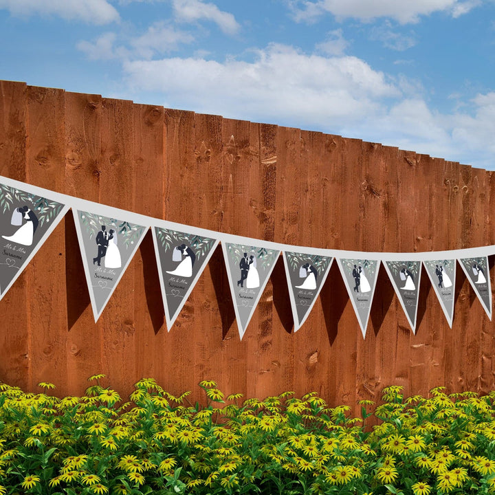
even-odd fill
[(328, 127), (380, 112), (400, 91), (353, 56), (323, 57), (270, 45), (253, 62), (164, 58), (124, 63), (131, 87), (161, 91), (170, 107), (236, 118)]

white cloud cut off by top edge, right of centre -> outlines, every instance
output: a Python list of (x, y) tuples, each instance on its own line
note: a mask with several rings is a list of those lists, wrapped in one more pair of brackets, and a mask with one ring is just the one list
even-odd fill
[(433, 12), (447, 12), (459, 17), (478, 5), (480, 0), (289, 0), (298, 21), (314, 21), (325, 12), (345, 19), (372, 21), (380, 17), (395, 19), (399, 23), (415, 23), (421, 16)]

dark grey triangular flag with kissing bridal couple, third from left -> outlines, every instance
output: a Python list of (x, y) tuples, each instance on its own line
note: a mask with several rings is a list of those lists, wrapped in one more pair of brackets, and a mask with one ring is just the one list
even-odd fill
[(219, 241), (189, 232), (153, 228), (167, 329), (175, 322)]

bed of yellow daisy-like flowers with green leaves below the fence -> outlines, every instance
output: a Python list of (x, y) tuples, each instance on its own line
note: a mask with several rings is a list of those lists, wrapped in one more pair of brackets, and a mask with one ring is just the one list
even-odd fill
[(495, 492), (495, 393), (391, 386), (355, 418), (315, 393), (241, 401), (209, 381), (206, 407), (150, 379), (120, 404), (102, 377), (63, 399), (0, 384), (0, 494)]

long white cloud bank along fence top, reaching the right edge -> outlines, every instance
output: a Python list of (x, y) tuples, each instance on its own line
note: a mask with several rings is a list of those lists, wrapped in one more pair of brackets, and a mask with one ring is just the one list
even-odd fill
[[(494, 168), (495, 92), (441, 113), (417, 80), (388, 78), (354, 56), (269, 45), (254, 61), (163, 58), (126, 61), (131, 91), (227, 118), (297, 126)], [(156, 96), (155, 96), (156, 98)]]

